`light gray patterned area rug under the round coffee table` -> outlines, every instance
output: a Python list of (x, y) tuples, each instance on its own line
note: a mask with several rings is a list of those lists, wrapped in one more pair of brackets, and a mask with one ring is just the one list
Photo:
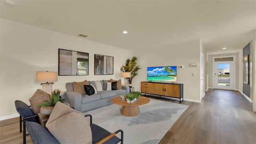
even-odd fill
[[(124, 144), (157, 144), (174, 122), (188, 108), (183, 104), (150, 99), (148, 104), (139, 106), (138, 116), (123, 116), (122, 106), (111, 104), (84, 112), (92, 115), (92, 123), (109, 132), (124, 131)], [(117, 134), (120, 137), (120, 134)]]

